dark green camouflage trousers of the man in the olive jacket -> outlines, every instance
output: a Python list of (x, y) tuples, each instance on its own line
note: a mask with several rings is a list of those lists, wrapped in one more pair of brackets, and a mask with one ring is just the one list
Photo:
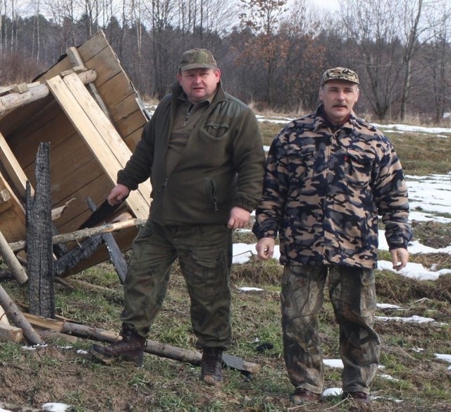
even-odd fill
[(124, 282), (123, 324), (147, 337), (178, 258), (190, 295), (197, 349), (227, 349), (232, 231), (225, 225), (160, 226), (147, 221), (135, 241)]

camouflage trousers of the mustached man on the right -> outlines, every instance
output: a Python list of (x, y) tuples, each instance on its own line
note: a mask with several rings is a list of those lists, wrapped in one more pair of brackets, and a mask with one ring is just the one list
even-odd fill
[(373, 330), (376, 310), (374, 272), (347, 266), (285, 266), (282, 278), (282, 329), (290, 382), (311, 392), (323, 389), (318, 332), (323, 289), (340, 326), (343, 392), (369, 393), (378, 370), (380, 342)]

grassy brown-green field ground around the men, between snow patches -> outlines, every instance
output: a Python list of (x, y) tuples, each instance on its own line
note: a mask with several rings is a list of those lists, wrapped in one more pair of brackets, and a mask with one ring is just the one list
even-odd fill
[[(265, 145), (271, 143), (279, 128), (273, 123), (261, 123)], [(450, 171), (450, 138), (421, 133), (388, 135), (400, 155), (404, 174)], [(432, 248), (450, 246), (451, 225), (416, 222), (414, 238)], [(235, 242), (254, 243), (255, 239), (249, 234), (235, 234)], [(389, 260), (388, 253), (381, 252), (380, 258)], [(425, 267), (436, 264), (436, 269), (451, 269), (451, 257), (445, 253), (411, 255), (411, 261)], [(92, 344), (87, 339), (68, 343), (62, 337), (53, 338), (47, 347), (35, 350), (1, 343), (0, 407), (36, 412), (47, 402), (61, 402), (70, 405), (68, 411), (72, 412), (345, 411), (347, 405), (340, 396), (328, 396), (318, 406), (309, 408), (290, 402), (292, 387), (283, 363), (280, 330), (280, 272), (276, 261), (263, 263), (251, 259), (233, 267), (230, 353), (259, 363), (261, 369), (253, 376), (225, 369), (223, 384), (211, 388), (199, 382), (198, 367), (153, 355), (144, 357), (143, 368), (126, 363), (102, 365), (86, 353)], [(379, 309), (378, 316), (416, 315), (432, 317), (435, 322), (376, 321), (382, 341), (383, 369), (371, 387), (373, 410), (451, 411), (449, 363), (435, 357), (436, 353), (451, 354), (451, 276), (445, 274), (437, 281), (415, 281), (382, 271), (376, 278), (378, 301), (398, 306)], [(70, 277), (68, 282), (71, 288), (55, 286), (57, 314), (83, 325), (117, 332), (123, 295), (109, 262)], [(27, 304), (26, 288), (8, 277), (2, 279), (1, 286), (16, 303)], [(256, 286), (263, 291), (245, 292), (240, 286)], [(338, 328), (327, 298), (321, 313), (321, 338), (323, 358), (340, 358)], [(189, 301), (177, 265), (149, 339), (194, 350)], [(336, 387), (340, 387), (340, 369), (326, 366), (325, 389)]]

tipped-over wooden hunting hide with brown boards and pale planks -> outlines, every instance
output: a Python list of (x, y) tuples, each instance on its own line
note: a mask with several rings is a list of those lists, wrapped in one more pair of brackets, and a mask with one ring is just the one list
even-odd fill
[[(70, 47), (32, 83), (0, 85), (0, 232), (6, 241), (25, 241), (26, 182), (36, 187), (39, 143), (50, 145), (51, 209), (66, 206), (54, 220), (54, 236), (71, 233), (91, 214), (88, 196), (100, 205), (116, 184), (118, 170), (130, 158), (149, 119), (142, 107), (101, 31), (80, 47)], [(150, 192), (150, 182), (142, 183), (121, 212), (147, 218)], [(130, 248), (136, 234), (135, 225), (116, 231), (120, 250)], [(69, 249), (76, 247), (76, 242), (68, 244)], [(102, 244), (66, 274), (108, 257)]]

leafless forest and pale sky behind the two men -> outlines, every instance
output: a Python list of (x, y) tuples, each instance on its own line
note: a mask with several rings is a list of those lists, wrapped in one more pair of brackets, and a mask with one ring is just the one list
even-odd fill
[(324, 70), (359, 73), (358, 114), (449, 124), (450, 0), (0, 0), (0, 86), (30, 82), (103, 30), (144, 99), (186, 49), (211, 50), (228, 92), (257, 110), (311, 111)]

